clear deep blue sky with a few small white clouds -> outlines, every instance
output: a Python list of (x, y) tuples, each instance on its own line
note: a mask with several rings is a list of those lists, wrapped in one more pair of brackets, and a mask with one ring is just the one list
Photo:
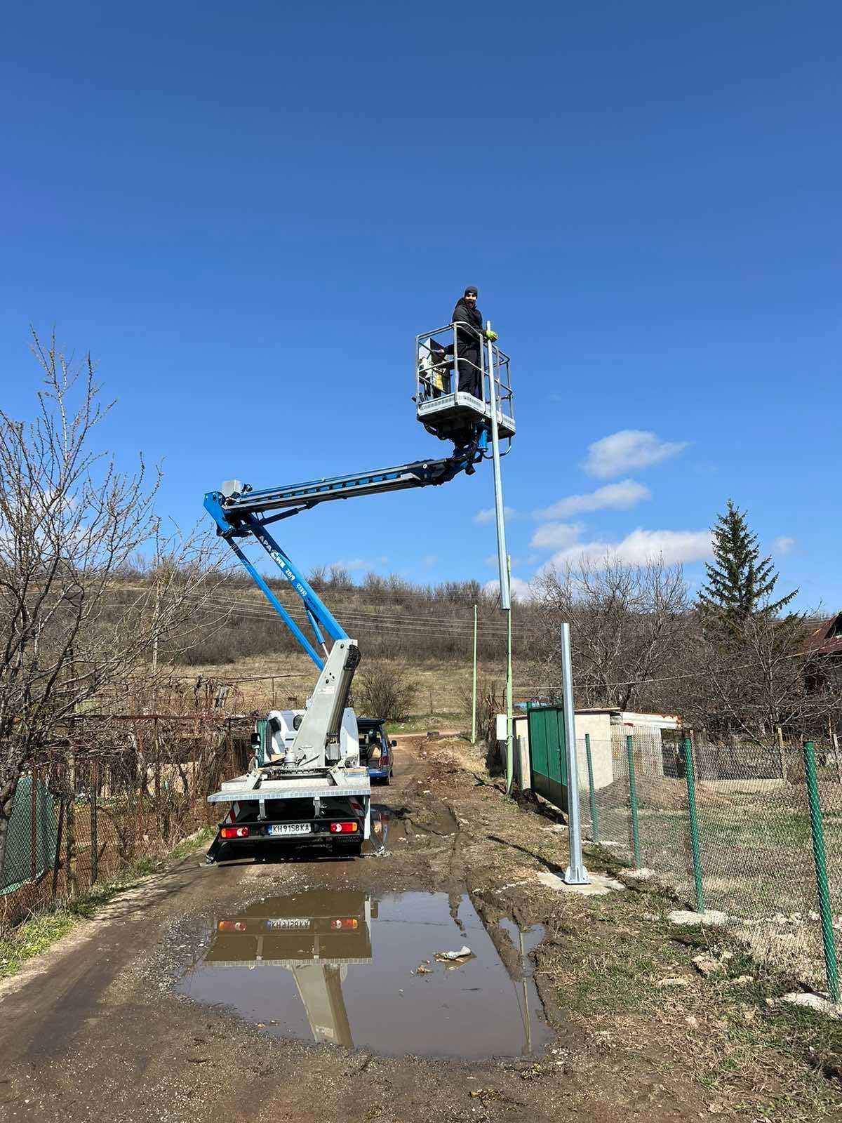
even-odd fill
[[(513, 357), (520, 581), (584, 545), (663, 548), (695, 582), (731, 496), (803, 606), (842, 604), (839, 4), (30, 2), (3, 25), (4, 409), (30, 409), (29, 323), (55, 325), (119, 400), (103, 439), (163, 458), (189, 523), (231, 476), (442, 455), (413, 337), (473, 283)], [(281, 537), (305, 568), (487, 581), (492, 502), (483, 468)]]

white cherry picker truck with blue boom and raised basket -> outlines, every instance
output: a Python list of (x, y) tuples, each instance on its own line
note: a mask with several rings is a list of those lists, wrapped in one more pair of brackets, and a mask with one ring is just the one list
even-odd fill
[[(500, 441), (507, 440), (511, 448), (514, 436), (509, 356), (483, 332), (481, 368), (472, 380), (483, 396), (458, 390), (457, 364), (466, 360), (454, 357), (457, 329), (460, 335), (476, 331), (467, 323), (447, 325), (415, 338), (417, 418), (428, 432), (452, 441), (449, 456), (274, 487), (230, 480), (204, 496), (217, 533), (319, 669), (305, 709), (274, 710), (258, 719), (249, 770), (225, 780), (208, 797), (229, 805), (208, 851), (209, 865), (302, 843), (358, 856), (370, 837), (370, 782), (359, 757), (357, 719), (348, 705), (359, 648), (268, 528), (320, 503), (439, 486), (461, 472), (473, 474), (488, 458), (494, 459), (498, 484)], [(500, 496), (497, 505), (502, 511)], [(251, 540), (300, 597), (298, 620), (246, 555), (244, 547)], [(507, 584), (505, 595), (507, 601)]]

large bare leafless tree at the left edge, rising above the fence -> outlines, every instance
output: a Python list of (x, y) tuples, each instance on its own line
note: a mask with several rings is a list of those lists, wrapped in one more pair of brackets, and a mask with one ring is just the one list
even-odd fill
[[(192, 619), (219, 566), (211, 538), (165, 533), (161, 472), (93, 448), (110, 412), (90, 356), (74, 364), (34, 334), (34, 420), (0, 411), (0, 867), (18, 777), (56, 727), (103, 686), (148, 665)], [(126, 579), (152, 551), (153, 579)], [(122, 576), (122, 582), (120, 581)], [(189, 629), (187, 629), (189, 632)], [(186, 633), (185, 633), (186, 634)]]

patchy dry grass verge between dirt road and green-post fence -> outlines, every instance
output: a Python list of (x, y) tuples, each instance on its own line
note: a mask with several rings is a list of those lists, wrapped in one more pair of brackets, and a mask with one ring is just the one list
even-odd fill
[[(672, 928), (674, 901), (658, 886), (587, 898), (544, 888), (536, 875), (564, 866), (566, 837), (506, 800), (476, 747), (431, 742), (428, 751), (455, 769), (448, 791), (469, 820), (464, 853), (479, 897), (546, 925), (537, 982), (548, 1008), (585, 1034), (595, 1087), (610, 1087), (616, 1072), (632, 1084), (642, 1071), (666, 1088), (690, 1085), (705, 1114), (762, 1123), (842, 1116), (842, 1023), (781, 1004), (789, 980), (733, 934)], [(622, 876), (596, 850), (587, 862)], [(701, 952), (720, 964), (708, 977), (693, 964)]]

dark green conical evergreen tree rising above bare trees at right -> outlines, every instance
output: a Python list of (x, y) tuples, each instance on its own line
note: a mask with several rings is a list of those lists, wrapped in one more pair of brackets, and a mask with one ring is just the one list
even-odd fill
[(706, 565), (707, 584), (698, 594), (702, 610), (725, 622), (738, 623), (751, 615), (776, 617), (797, 595), (794, 590), (771, 600), (778, 574), (771, 557), (760, 558), (757, 535), (749, 530), (747, 512), (731, 500), (716, 517), (713, 531), (714, 565)]

